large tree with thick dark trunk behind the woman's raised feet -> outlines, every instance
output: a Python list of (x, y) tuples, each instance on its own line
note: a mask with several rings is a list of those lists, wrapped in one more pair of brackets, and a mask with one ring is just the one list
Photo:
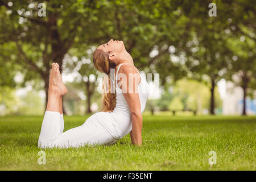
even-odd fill
[[(9, 57), (9, 60), (39, 75), (48, 96), (51, 63), (58, 63), (62, 71), (64, 55), (75, 43), (84, 44), (85, 40), (96, 42), (102, 38), (93, 34), (92, 26), (95, 22), (92, 11), (93, 8), (97, 9), (99, 2), (47, 2), (46, 17), (38, 16), (39, 3), (0, 1), (0, 43), (9, 43), (9, 46), (15, 44), (15, 57)], [(85, 35), (83, 30), (86, 30)]]

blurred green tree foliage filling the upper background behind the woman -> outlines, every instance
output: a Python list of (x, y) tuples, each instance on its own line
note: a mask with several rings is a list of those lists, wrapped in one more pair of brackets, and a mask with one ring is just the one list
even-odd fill
[[(167, 91), (168, 80), (188, 77), (205, 82), (211, 90), (212, 114), (214, 90), (221, 78), (243, 75), (237, 84), (255, 90), (253, 0), (213, 1), (216, 17), (208, 15), (212, 1), (43, 2), (46, 16), (39, 17), (39, 1), (0, 0), (0, 86), (24, 87), (30, 82), (37, 90), (43, 88), (47, 96), (50, 65), (56, 61), (61, 71), (79, 72), (90, 111), (97, 85), (84, 80), (97, 77), (98, 72), (88, 60), (98, 45), (112, 38), (125, 42), (136, 67), (145, 73), (160, 73), (166, 91), (163, 102), (159, 100), (160, 109), (166, 110), (173, 97)], [(240, 41), (241, 37), (245, 40)], [(65, 57), (69, 63), (63, 65)], [(24, 76), (22, 83), (14, 81), (17, 73)], [(185, 100), (195, 103), (195, 98), (180, 99), (183, 105)]]

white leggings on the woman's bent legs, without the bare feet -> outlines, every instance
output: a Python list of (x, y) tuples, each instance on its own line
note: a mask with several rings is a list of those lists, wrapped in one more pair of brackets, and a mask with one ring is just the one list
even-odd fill
[(113, 144), (114, 138), (104, 126), (93, 119), (88, 119), (83, 125), (63, 133), (63, 114), (46, 111), (38, 140), (39, 148), (81, 147), (85, 144)]

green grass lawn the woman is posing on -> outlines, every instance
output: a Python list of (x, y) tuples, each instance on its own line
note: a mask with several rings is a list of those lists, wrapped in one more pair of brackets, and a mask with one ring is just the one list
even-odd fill
[[(64, 117), (65, 129), (87, 116)], [(38, 164), (43, 116), (0, 117), (0, 170), (255, 170), (256, 117), (143, 116), (142, 147), (126, 135), (113, 146), (47, 149)], [(209, 151), (217, 164), (210, 167)]]

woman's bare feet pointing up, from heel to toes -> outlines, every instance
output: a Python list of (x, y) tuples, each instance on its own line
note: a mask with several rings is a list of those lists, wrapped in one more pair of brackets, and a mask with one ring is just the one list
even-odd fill
[(63, 84), (59, 64), (52, 63), (52, 69), (49, 76), (49, 92), (54, 92), (59, 96), (64, 96), (68, 90)]

